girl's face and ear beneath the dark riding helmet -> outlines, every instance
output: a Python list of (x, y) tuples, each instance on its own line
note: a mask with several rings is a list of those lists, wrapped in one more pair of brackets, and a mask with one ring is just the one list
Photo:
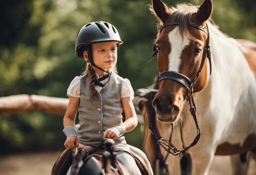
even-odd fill
[[(117, 61), (117, 42), (113, 41), (92, 44), (92, 57), (94, 64), (98, 67), (102, 69), (111, 69)], [(88, 61), (87, 53), (84, 53), (84, 58)]]

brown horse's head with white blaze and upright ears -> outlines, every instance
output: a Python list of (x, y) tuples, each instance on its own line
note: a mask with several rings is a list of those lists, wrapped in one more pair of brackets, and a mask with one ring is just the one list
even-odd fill
[[(169, 22), (179, 22), (179, 25), (170, 25), (159, 31), (155, 41), (158, 50), (157, 67), (159, 73), (174, 71), (185, 75), (192, 81), (198, 74), (207, 43), (207, 34), (187, 22), (205, 28), (206, 21), (212, 13), (211, 0), (205, 0), (200, 7), (188, 4), (178, 5), (168, 9), (161, 0), (152, 0), (153, 13), (161, 21), (161, 25)], [(207, 62), (207, 60), (206, 60)], [(202, 67), (200, 76), (194, 84), (194, 92), (202, 90), (207, 83), (209, 70)], [(183, 109), (184, 97), (188, 89), (175, 80), (162, 79), (159, 90), (152, 102), (158, 119), (163, 122), (176, 122)]]

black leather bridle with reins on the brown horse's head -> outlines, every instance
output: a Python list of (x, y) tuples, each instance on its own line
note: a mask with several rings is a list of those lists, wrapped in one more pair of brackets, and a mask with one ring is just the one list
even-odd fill
[[(179, 25), (179, 22), (169, 22), (169, 23), (164, 24), (160, 28), (159, 34), (161, 33), (163, 28), (165, 28), (167, 26), (170, 26), (170, 25)], [(183, 149), (179, 150), (179, 149), (177, 149), (171, 143), (171, 138), (172, 138), (172, 133), (173, 133), (173, 125), (172, 125), (172, 131), (170, 133), (170, 138), (169, 138), (169, 140), (167, 140), (167, 139), (164, 139), (164, 137), (157, 136), (156, 132), (154, 131), (154, 128), (152, 127), (152, 124), (151, 124), (151, 121), (150, 121), (150, 118), (149, 118), (149, 123), (150, 123), (149, 129), (156, 136), (157, 144), (161, 145), (168, 153), (173, 154), (175, 156), (176, 155), (180, 155), (181, 153), (184, 153), (187, 149), (189, 149), (190, 147), (196, 145), (197, 142), (199, 141), (199, 138), (200, 138), (200, 134), (201, 133), (200, 133), (200, 128), (198, 126), (197, 119), (196, 119), (196, 104), (195, 104), (195, 101), (194, 101), (194, 98), (193, 98), (193, 87), (194, 87), (194, 85), (196, 83), (196, 80), (199, 77), (200, 72), (201, 72), (201, 70), (202, 70), (202, 68), (204, 66), (206, 57), (209, 59), (209, 62), (210, 62), (210, 75), (211, 75), (211, 52), (210, 52), (210, 45), (209, 45), (210, 35), (209, 35), (208, 26), (206, 24), (206, 27), (207, 27), (207, 31), (206, 31), (203, 27), (201, 27), (201, 26), (199, 26), (197, 24), (194, 24), (194, 23), (187, 22), (187, 25), (195, 27), (195, 28), (197, 28), (199, 30), (202, 30), (202, 31), (204, 31), (207, 34), (206, 46), (203, 49), (204, 53), (203, 53), (201, 65), (199, 67), (197, 75), (195, 76), (195, 78), (192, 81), (190, 81), (190, 79), (188, 77), (186, 77), (185, 75), (182, 75), (182, 74), (180, 74), (178, 72), (175, 72), (175, 71), (165, 71), (165, 72), (159, 73), (159, 70), (158, 70), (158, 78), (159, 78), (158, 83), (160, 83), (160, 81), (163, 80), (163, 79), (170, 79), (170, 80), (177, 81), (178, 83), (184, 85), (187, 88), (187, 93), (186, 93), (186, 95), (184, 97), (184, 101), (185, 101), (185, 99), (187, 99), (188, 102), (189, 102), (189, 105), (190, 105), (189, 111), (190, 111), (191, 115), (194, 118), (194, 121), (195, 121), (195, 124), (196, 124), (196, 127), (197, 127), (197, 135), (196, 135), (194, 141), (189, 146), (184, 147), (183, 136), (182, 136), (182, 126), (180, 124), (180, 132), (181, 132), (180, 134), (181, 134), (181, 140), (182, 140)], [(154, 44), (154, 49), (153, 50), (155, 52), (153, 54), (153, 57), (154, 57), (158, 53), (158, 49), (157, 49), (156, 44)], [(191, 102), (191, 100), (192, 100), (192, 102)], [(168, 155), (169, 154), (166, 155), (164, 160), (166, 160)]]

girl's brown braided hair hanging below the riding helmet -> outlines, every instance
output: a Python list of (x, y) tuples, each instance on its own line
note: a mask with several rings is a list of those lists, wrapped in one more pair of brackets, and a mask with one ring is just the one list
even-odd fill
[[(117, 49), (119, 49), (119, 43), (117, 43)], [(92, 54), (90, 53), (92, 51), (92, 44), (85, 45), (83, 51), (87, 51), (88, 57), (89, 57)], [(95, 86), (96, 86), (95, 80), (97, 80), (97, 76), (95, 74), (94, 69), (89, 64), (89, 62), (87, 62), (84, 68), (85, 68), (85, 71), (82, 72), (80, 76), (85, 76), (89, 79), (89, 85), (92, 92), (91, 100), (94, 99), (97, 102), (97, 92), (96, 92), (97, 90), (95, 89)], [(114, 72), (115, 74), (118, 74), (116, 64), (112, 67), (111, 71)]]

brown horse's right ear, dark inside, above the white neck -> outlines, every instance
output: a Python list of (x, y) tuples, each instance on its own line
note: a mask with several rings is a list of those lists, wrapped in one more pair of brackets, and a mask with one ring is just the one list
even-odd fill
[(197, 10), (197, 19), (203, 24), (207, 21), (212, 13), (212, 2), (211, 0), (205, 0)]

